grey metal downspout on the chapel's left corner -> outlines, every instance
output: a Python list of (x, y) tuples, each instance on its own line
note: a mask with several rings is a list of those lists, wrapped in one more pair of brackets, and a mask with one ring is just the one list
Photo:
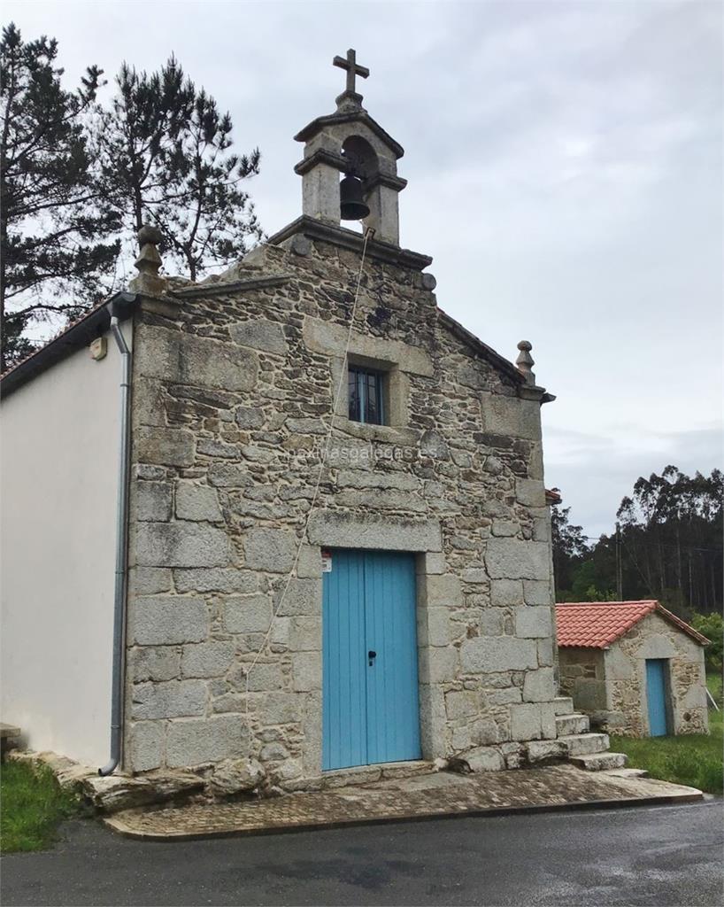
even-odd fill
[(111, 775), (121, 762), (123, 727), (123, 679), (126, 636), (126, 593), (128, 590), (128, 499), (130, 484), (130, 375), (131, 354), (117, 316), (111, 312), (111, 332), (121, 353), (121, 444), (118, 463), (116, 506), (116, 575), (113, 594), (113, 675), (111, 691), (111, 758), (98, 769)]

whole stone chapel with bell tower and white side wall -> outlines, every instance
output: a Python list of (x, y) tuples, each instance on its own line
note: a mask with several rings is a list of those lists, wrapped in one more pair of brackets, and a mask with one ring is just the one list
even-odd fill
[(403, 149), (334, 63), (301, 217), (198, 283), (142, 229), (129, 291), (4, 376), (4, 720), (100, 765), (110, 737), (108, 771), (253, 759), (284, 790), (620, 765), (557, 696), (554, 398), (530, 344), (513, 364), (438, 307)]

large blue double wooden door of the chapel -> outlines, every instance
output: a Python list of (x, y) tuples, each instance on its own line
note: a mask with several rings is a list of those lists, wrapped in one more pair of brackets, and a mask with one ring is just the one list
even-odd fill
[(324, 562), (322, 767), (419, 759), (414, 555)]

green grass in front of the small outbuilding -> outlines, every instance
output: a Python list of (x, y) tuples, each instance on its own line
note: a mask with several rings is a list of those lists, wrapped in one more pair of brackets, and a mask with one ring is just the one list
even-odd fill
[(611, 737), (614, 753), (625, 753), (632, 768), (645, 768), (652, 778), (698, 787), (710, 794), (722, 793), (724, 777), (724, 732), (722, 731), (721, 676), (707, 677), (707, 686), (719, 705), (709, 712), (710, 734), (681, 736)]

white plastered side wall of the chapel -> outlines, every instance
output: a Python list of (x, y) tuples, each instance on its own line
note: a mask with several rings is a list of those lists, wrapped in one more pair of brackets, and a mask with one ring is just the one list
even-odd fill
[(121, 357), (106, 342), (101, 361), (81, 348), (0, 406), (0, 720), (90, 765), (111, 723)]

